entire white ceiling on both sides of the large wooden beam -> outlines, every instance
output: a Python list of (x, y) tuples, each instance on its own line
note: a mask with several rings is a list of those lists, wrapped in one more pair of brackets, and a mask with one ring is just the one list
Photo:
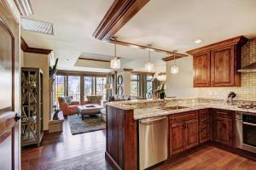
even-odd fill
[[(92, 37), (113, 0), (33, 0), (34, 20), (55, 25), (55, 36), (21, 31), (33, 48), (50, 48), (60, 58), (59, 69), (74, 71), (111, 71), (109, 68), (74, 66), (79, 56), (110, 59), (113, 44)], [(256, 0), (151, 0), (119, 32), (121, 41), (155, 48), (185, 52), (212, 42), (244, 35), (256, 36)], [(195, 44), (195, 39), (203, 42)], [(146, 50), (117, 46), (125, 68), (143, 70)], [(86, 56), (86, 57), (85, 57)], [(158, 70), (165, 71), (161, 58), (151, 53)], [(67, 60), (69, 59), (69, 60)]]

